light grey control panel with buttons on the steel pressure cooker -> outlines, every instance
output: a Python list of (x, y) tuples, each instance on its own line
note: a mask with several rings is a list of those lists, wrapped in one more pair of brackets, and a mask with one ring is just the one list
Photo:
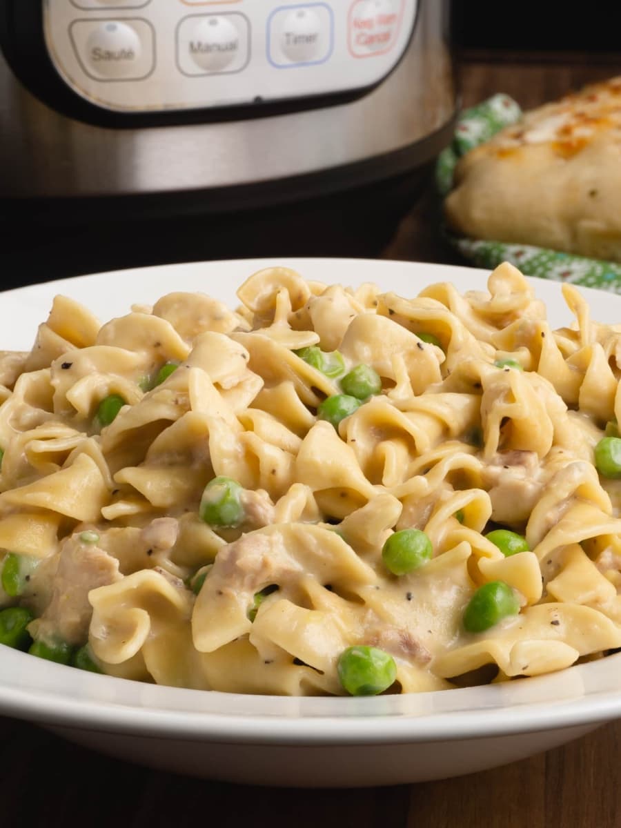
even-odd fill
[(55, 70), (108, 111), (165, 113), (352, 93), (406, 50), (418, 0), (46, 0)]

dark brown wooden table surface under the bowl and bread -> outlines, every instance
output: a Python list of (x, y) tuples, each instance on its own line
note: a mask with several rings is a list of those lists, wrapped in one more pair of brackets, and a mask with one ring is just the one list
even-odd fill
[[(465, 55), (464, 103), (503, 91), (523, 107), (621, 74), (621, 58)], [(424, 197), (386, 255), (455, 258), (434, 238)], [(103, 758), (31, 724), (0, 719), (0, 828), (248, 826), (248, 828), (618, 828), (621, 722), (565, 748), (487, 773), (420, 785), (345, 791), (238, 787)]]

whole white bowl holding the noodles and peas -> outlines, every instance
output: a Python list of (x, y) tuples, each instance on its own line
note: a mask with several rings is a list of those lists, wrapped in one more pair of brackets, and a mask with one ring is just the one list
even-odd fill
[[(378, 282), (414, 296), (431, 282), (484, 288), (487, 272), (411, 262), (270, 259), (145, 267), (2, 294), (0, 349), (29, 349), (56, 293), (102, 320), (171, 290), (229, 303), (271, 264), (313, 280)], [(570, 321), (556, 282), (532, 280), (552, 325)], [(621, 297), (585, 289), (596, 320)], [(349, 787), (421, 782), (493, 768), (575, 739), (621, 715), (621, 653), (504, 684), (375, 698), (284, 698), (178, 690), (98, 676), (0, 647), (0, 714), (79, 744), (194, 776), (253, 784)]]

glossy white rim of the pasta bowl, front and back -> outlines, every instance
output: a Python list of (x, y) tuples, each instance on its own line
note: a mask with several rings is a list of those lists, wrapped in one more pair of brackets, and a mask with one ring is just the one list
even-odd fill
[[(4, 301), (14, 302), (18, 311), (31, 307), (34, 301), (40, 313), (42, 301), (49, 301), (67, 286), (79, 286), (80, 293), (88, 293), (101, 282), (99, 289), (105, 285), (109, 291), (131, 279), (147, 287), (152, 277), (158, 282), (159, 277), (172, 273), (182, 277), (181, 282), (185, 277), (194, 282), (209, 270), (219, 272), (226, 282), (233, 273), (248, 276), (262, 267), (294, 267), (306, 275), (305, 268), (315, 271), (335, 263), (355, 273), (358, 282), (377, 280), (378, 267), (401, 277), (414, 277), (416, 282), (422, 278), (426, 283), (469, 280), (479, 289), (489, 277), (489, 270), (427, 262), (270, 257), (93, 273), (14, 288), (0, 295)], [(351, 282), (351, 275), (343, 281)], [(559, 282), (532, 277), (528, 281), (546, 301), (560, 296)], [(176, 285), (175, 289), (183, 287)], [(621, 317), (621, 296), (611, 297), (586, 287), (580, 291), (599, 306), (616, 306)], [(407, 696), (249, 696), (97, 676), (0, 647), (0, 713), (79, 729), (226, 744), (402, 744), (482, 739), (598, 724), (621, 716), (619, 666), (621, 653), (546, 676)]]

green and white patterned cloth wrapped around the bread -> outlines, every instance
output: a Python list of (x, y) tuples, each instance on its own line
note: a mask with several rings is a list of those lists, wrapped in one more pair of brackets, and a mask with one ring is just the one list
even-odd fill
[[(465, 109), (457, 121), (453, 141), (440, 152), (436, 163), (436, 188), (440, 196), (444, 198), (452, 189), (455, 164), (461, 156), (521, 117), (522, 110), (517, 103), (504, 94), (494, 95), (477, 106)], [(621, 264), (617, 262), (560, 253), (530, 244), (483, 241), (448, 232), (446, 236), (461, 255), (477, 267), (493, 269), (501, 262), (511, 262), (527, 276), (621, 293)]]

